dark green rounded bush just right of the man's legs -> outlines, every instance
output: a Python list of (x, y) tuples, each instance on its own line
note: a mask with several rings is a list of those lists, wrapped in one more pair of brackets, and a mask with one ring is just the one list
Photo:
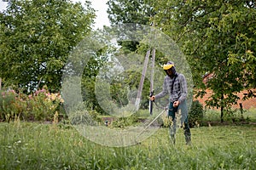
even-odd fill
[(199, 126), (203, 119), (203, 106), (198, 100), (193, 101), (189, 111), (189, 126)]

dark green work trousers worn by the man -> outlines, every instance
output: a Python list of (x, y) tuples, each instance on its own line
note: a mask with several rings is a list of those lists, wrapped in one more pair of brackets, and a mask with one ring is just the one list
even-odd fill
[(190, 133), (190, 128), (189, 128), (188, 109), (187, 109), (186, 101), (183, 101), (177, 107), (173, 107), (172, 102), (169, 105), (168, 116), (172, 117), (172, 124), (170, 126), (171, 139), (173, 140), (173, 143), (175, 143), (175, 134), (176, 134), (176, 129), (177, 129), (176, 114), (177, 114), (178, 110), (181, 111), (180, 122), (181, 122), (181, 126), (183, 127), (183, 130), (184, 130), (186, 144), (189, 144), (191, 142), (191, 133)]

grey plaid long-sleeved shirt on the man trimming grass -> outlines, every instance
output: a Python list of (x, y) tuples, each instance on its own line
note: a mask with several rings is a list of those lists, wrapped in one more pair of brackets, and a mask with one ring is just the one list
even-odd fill
[(187, 88), (187, 81), (183, 74), (178, 74), (175, 82), (173, 83), (173, 90), (172, 90), (172, 82), (174, 77), (171, 78), (166, 76), (164, 79), (163, 90), (160, 94), (156, 94), (154, 97), (155, 99), (160, 99), (166, 94), (170, 94), (170, 102), (179, 101), (180, 103), (183, 102), (187, 98), (188, 88)]

